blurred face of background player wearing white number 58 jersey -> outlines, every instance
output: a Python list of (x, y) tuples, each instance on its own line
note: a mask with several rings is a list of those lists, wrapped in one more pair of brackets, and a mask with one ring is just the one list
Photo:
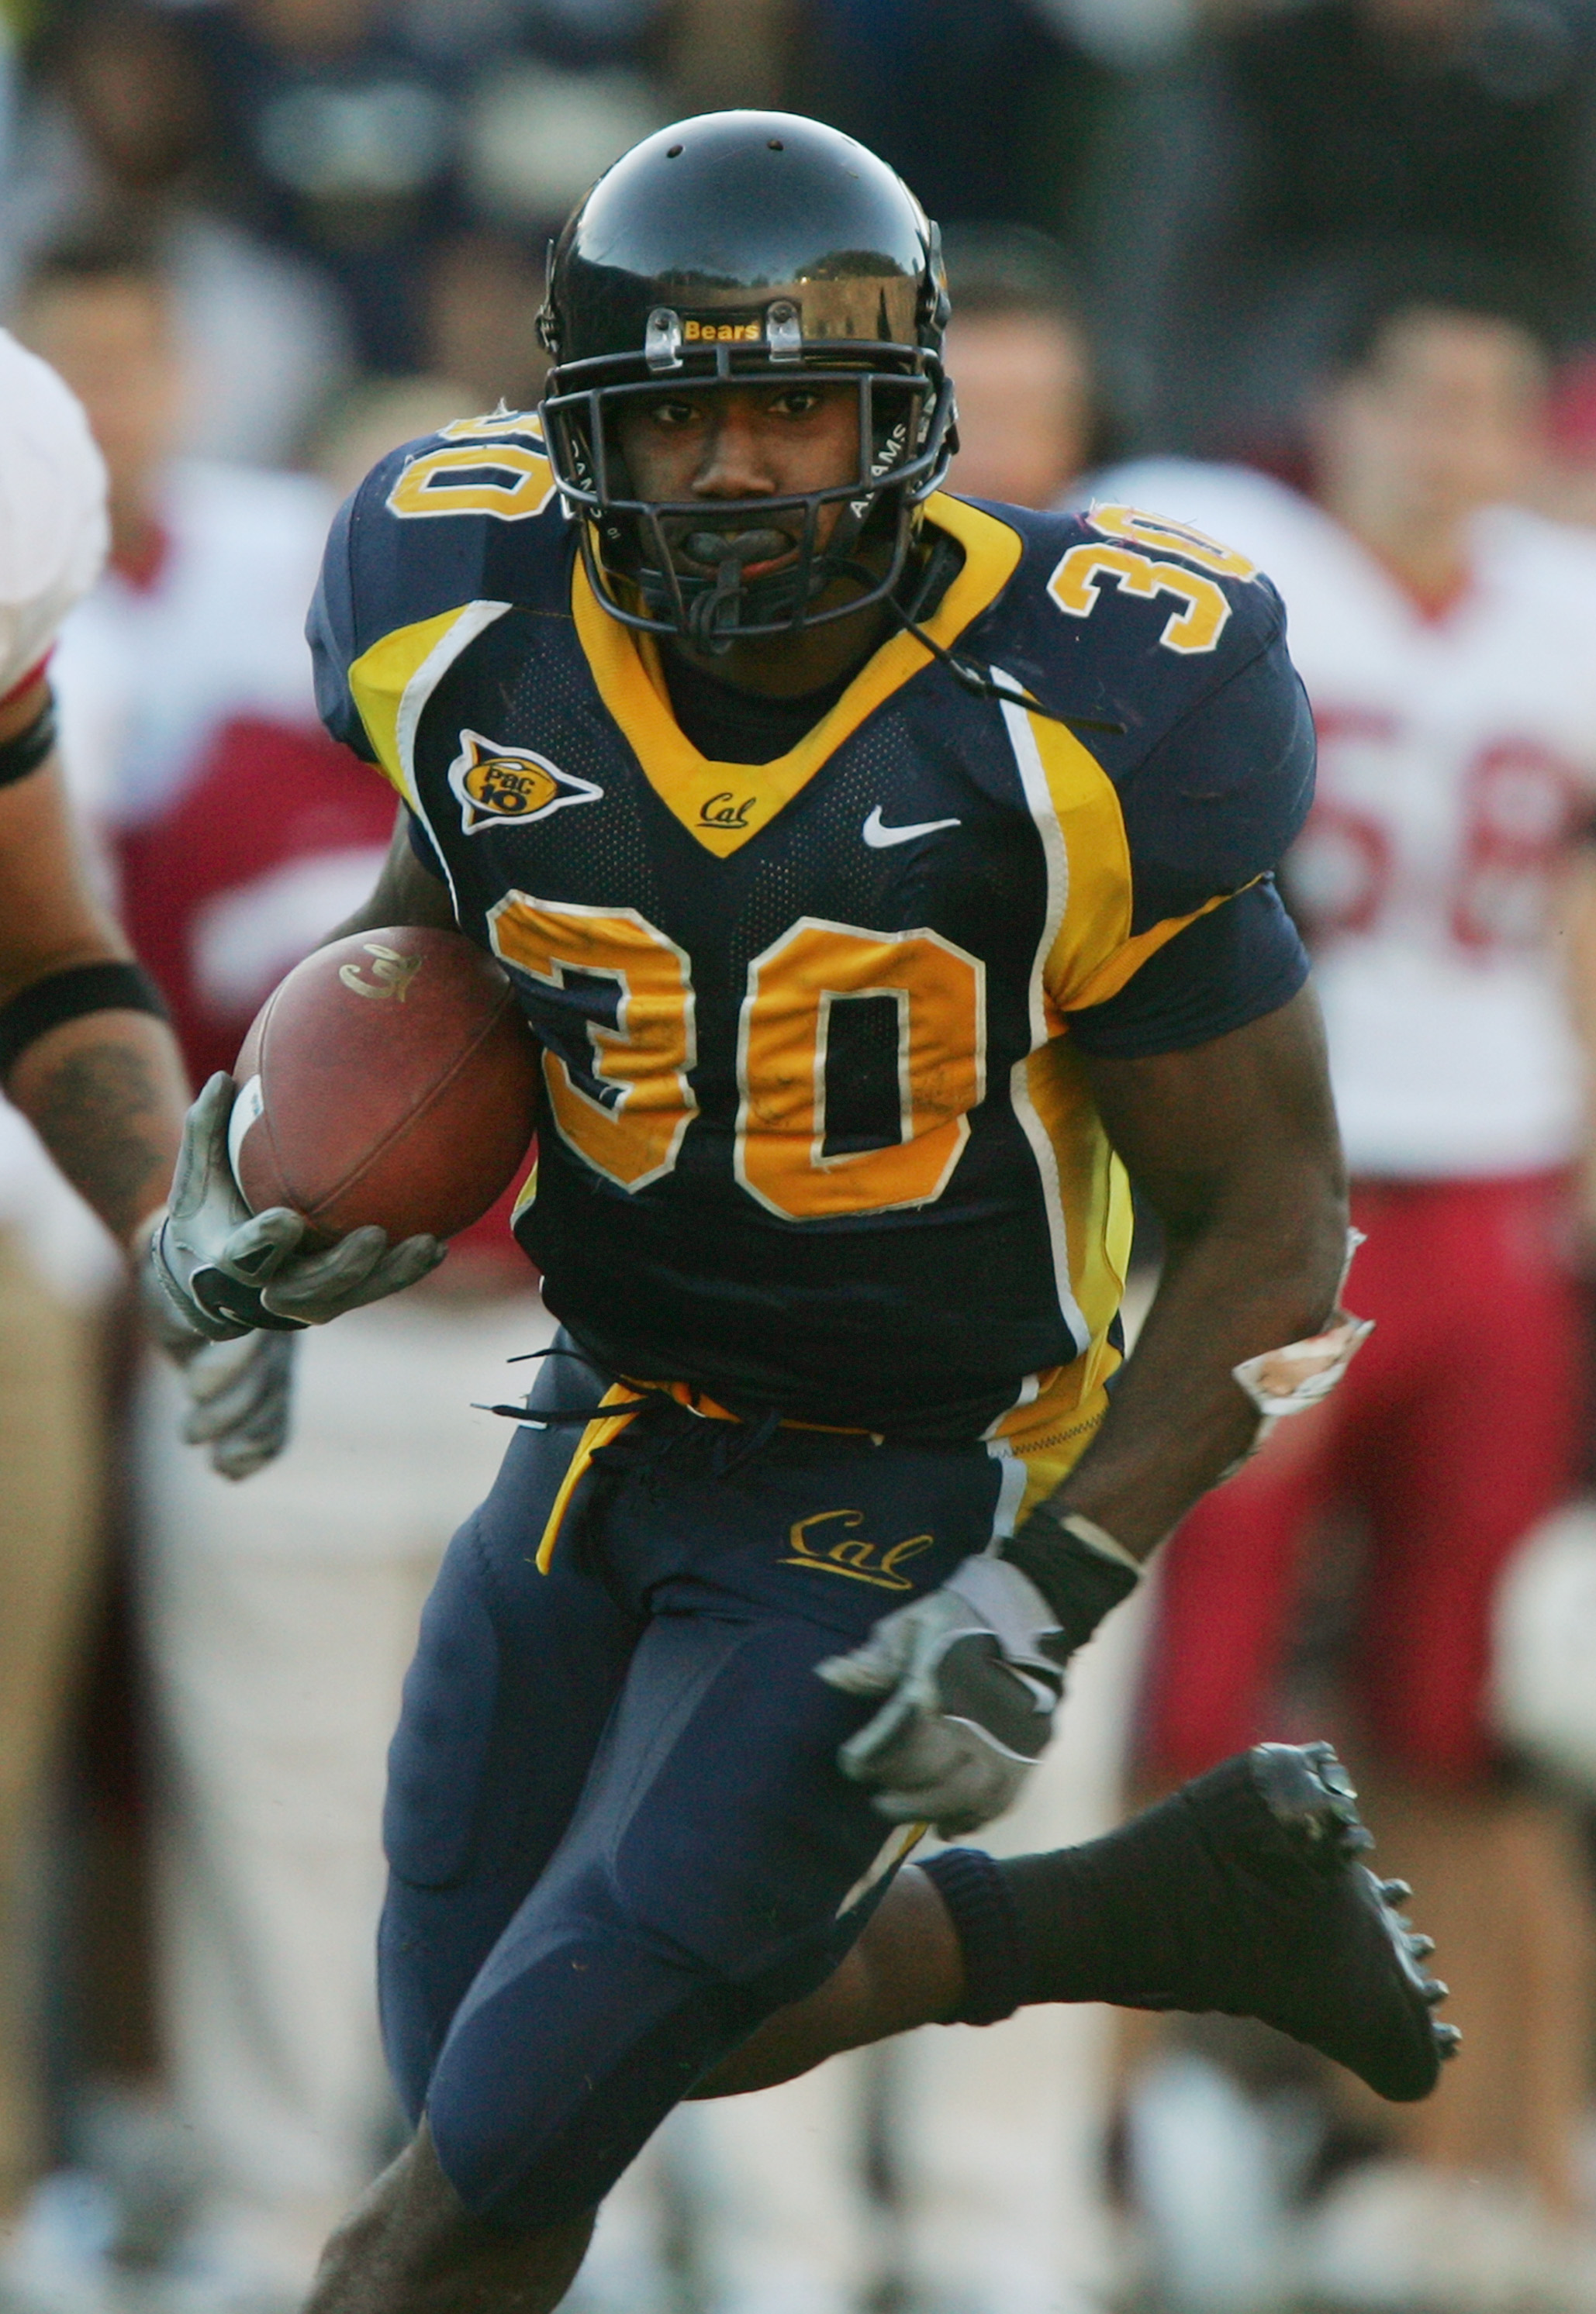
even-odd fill
[(1522, 331), (1487, 315), (1404, 315), (1325, 398), (1320, 481), (1332, 504), (1383, 507), (1388, 521), (1459, 521), (1522, 495), (1543, 419), (1545, 368)]

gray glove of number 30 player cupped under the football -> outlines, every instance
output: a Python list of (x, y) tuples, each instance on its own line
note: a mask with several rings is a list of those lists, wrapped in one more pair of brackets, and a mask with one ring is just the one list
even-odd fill
[(151, 1277), (178, 1326), (211, 1342), (250, 1328), (324, 1326), (438, 1268), (447, 1252), (438, 1238), (389, 1245), (382, 1229), (352, 1229), (324, 1252), (301, 1254), (303, 1215), (287, 1206), (252, 1215), (227, 1155), (236, 1090), (218, 1071), (190, 1108), (171, 1203), (151, 1243)]

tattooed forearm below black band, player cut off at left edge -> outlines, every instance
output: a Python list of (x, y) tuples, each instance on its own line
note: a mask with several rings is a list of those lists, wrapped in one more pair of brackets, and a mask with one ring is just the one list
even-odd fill
[(132, 1245), (171, 1185), (188, 1078), (153, 1014), (93, 1011), (37, 1037), (7, 1078), (72, 1187)]

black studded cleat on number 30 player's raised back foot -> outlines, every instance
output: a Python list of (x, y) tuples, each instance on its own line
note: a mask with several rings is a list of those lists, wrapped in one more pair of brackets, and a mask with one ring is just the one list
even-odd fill
[(1255, 1745), (1135, 1821), (1151, 1830), (1165, 1810), (1209, 1870), (1174, 1897), (1186, 1935), (1172, 1981), (1137, 2006), (1260, 2018), (1378, 2096), (1429, 2096), (1462, 2034), (1434, 2015), (1434, 1944), (1397, 1909), (1413, 1891), (1362, 1863), (1374, 1835), (1332, 1747)]

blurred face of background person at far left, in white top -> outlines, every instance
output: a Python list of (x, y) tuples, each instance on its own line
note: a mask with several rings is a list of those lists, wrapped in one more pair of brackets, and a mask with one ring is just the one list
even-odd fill
[(134, 509), (176, 447), (183, 377), (164, 301), (132, 275), (63, 282), (28, 305), (19, 336), (83, 403), (114, 516)]

